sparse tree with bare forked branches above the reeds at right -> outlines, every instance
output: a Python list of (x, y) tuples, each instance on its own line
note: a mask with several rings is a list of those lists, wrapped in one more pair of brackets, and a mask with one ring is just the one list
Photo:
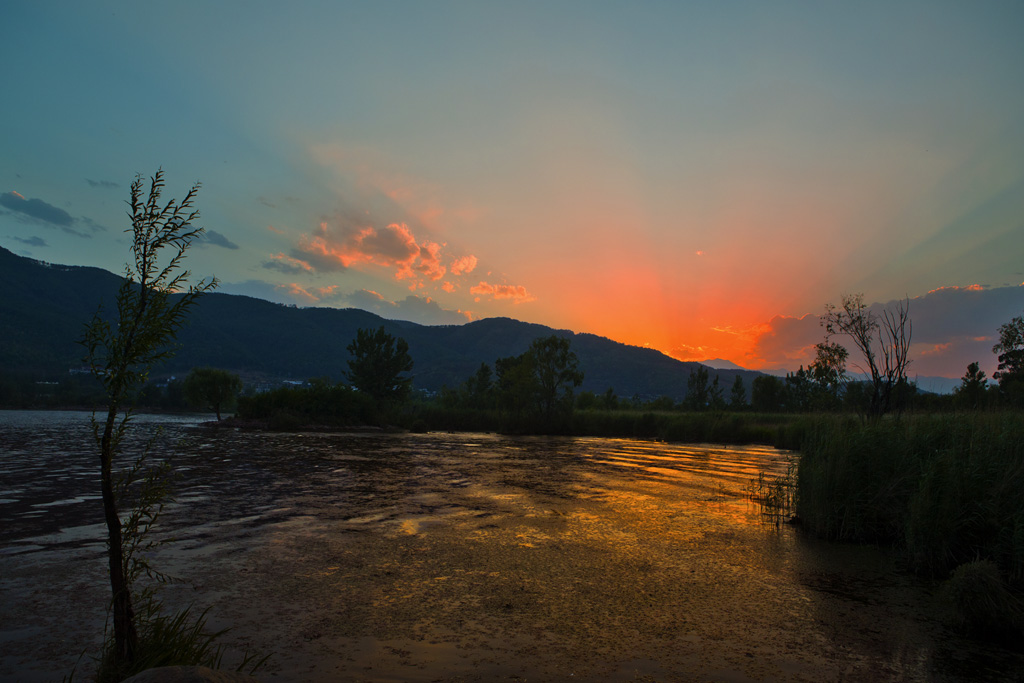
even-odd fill
[(894, 392), (906, 384), (912, 333), (909, 310), (910, 301), (906, 299), (895, 308), (885, 308), (880, 317), (864, 303), (862, 294), (844, 295), (839, 306), (825, 305), (821, 319), (825, 341), (830, 341), (834, 335), (847, 335), (867, 366), (863, 370), (870, 376), (868, 411), (873, 416), (893, 409)]

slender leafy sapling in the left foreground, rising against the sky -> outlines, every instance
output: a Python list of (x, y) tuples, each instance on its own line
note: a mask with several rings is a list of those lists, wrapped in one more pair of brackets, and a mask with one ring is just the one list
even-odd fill
[[(136, 574), (131, 535), (145, 528), (145, 510), (133, 511), (122, 520), (119, 509), (125, 487), (118, 486), (113, 473), (115, 458), (132, 417), (138, 390), (145, 384), (154, 365), (173, 355), (172, 342), (185, 322), (185, 313), (200, 294), (216, 287), (217, 281), (188, 284), (190, 273), (181, 262), (193, 241), (203, 233), (194, 225), (199, 212), (193, 210), (199, 183), (185, 198), (161, 204), (164, 188), (162, 170), (150, 180), (143, 201), (143, 181), (136, 176), (128, 202), (131, 218), (132, 262), (117, 294), (116, 319), (98, 309), (86, 326), (81, 343), (85, 361), (103, 385), (106, 416), (92, 416), (92, 431), (99, 450), (100, 490), (108, 532), (108, 564), (111, 579), (111, 612), (114, 622), (114, 664), (128, 669), (135, 660), (138, 631), (132, 606), (132, 580)], [(169, 256), (165, 253), (169, 253)], [(129, 477), (130, 478), (130, 477)], [(119, 495), (121, 494), (121, 495)], [(126, 539), (126, 536), (128, 537)]]

